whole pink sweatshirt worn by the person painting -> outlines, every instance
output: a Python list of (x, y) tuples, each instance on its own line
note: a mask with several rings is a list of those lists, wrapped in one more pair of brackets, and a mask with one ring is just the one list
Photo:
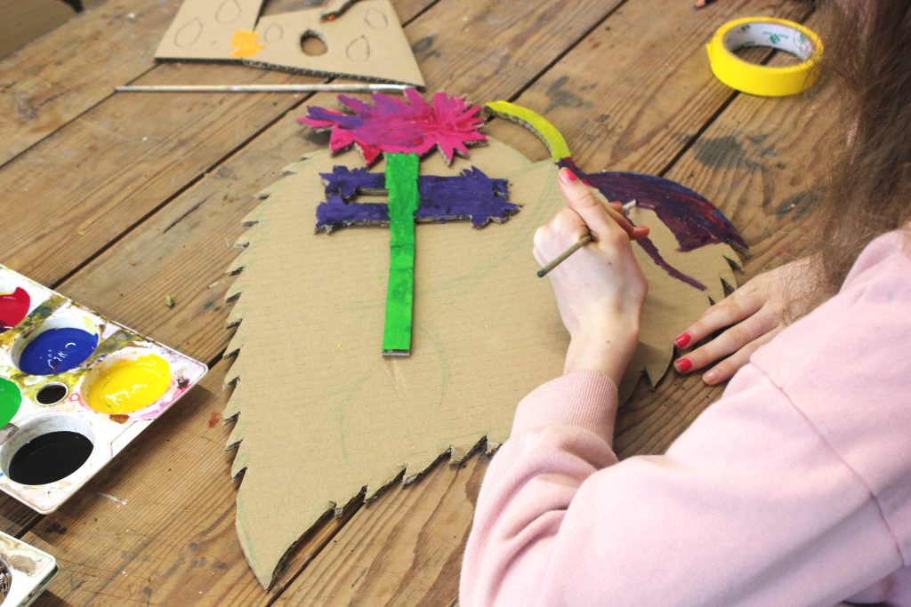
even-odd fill
[(599, 373), (529, 394), (481, 488), (460, 604), (911, 605), (902, 243), (871, 243), (664, 455), (618, 462)]

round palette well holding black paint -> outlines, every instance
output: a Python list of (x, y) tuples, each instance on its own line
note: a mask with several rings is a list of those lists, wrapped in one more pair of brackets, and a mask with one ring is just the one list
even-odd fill
[(46, 485), (79, 470), (94, 446), (94, 433), (85, 421), (68, 415), (44, 416), (6, 441), (0, 462), (11, 481)]

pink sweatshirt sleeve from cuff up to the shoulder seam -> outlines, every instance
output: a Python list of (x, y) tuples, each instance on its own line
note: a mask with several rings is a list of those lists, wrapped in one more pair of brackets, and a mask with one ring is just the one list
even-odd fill
[(664, 456), (616, 463), (616, 389), (520, 404), (476, 507), (463, 605), (834, 604), (901, 564), (865, 482), (752, 366)]

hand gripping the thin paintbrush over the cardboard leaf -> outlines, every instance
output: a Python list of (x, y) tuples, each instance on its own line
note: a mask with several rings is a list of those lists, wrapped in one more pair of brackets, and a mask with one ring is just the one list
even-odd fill
[(647, 230), (632, 229), (570, 170), (560, 169), (558, 182), (567, 207), (535, 233), (538, 263), (556, 258), (587, 233), (594, 238), (548, 274), (572, 338), (564, 372), (597, 370), (619, 383), (639, 342), (648, 290), (630, 238)]

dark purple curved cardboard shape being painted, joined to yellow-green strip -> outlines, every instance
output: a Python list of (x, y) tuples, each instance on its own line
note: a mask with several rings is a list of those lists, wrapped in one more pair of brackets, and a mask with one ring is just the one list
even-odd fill
[[(597, 187), (608, 200), (628, 202), (635, 199), (637, 207), (654, 212), (670, 228), (679, 245), (677, 250), (683, 253), (721, 242), (743, 252), (749, 250), (737, 228), (720, 210), (676, 181), (642, 173), (586, 173), (569, 157), (561, 158), (557, 165), (567, 167), (589, 186)], [(650, 238), (642, 238), (638, 242), (652, 261), (671, 277), (701, 291), (706, 290), (699, 280), (671, 266)]]

